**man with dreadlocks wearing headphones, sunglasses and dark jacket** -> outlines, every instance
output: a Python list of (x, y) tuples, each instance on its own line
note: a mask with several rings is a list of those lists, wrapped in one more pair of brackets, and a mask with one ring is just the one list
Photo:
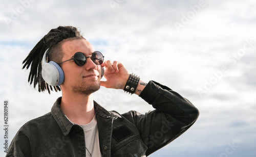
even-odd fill
[[(30, 84), (39, 92), (61, 90), (62, 97), (50, 113), (18, 130), (6, 156), (147, 156), (199, 116), (193, 104), (168, 87), (144, 83), (120, 62), (104, 61), (74, 27), (52, 29), (24, 63), (23, 68), (31, 66)], [(156, 110), (144, 115), (106, 111), (93, 100), (100, 86), (135, 93)]]

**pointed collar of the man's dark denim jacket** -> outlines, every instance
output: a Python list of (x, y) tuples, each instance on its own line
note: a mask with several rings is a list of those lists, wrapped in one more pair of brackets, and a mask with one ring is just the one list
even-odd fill
[[(61, 97), (59, 97), (53, 107), (51, 109), (51, 114), (56, 120), (59, 128), (61, 129), (63, 135), (67, 136), (70, 133), (71, 128), (75, 125), (75, 123), (71, 122), (67, 116), (60, 109)], [(97, 102), (94, 101), (94, 110), (96, 113), (96, 118), (101, 116), (105, 119), (112, 118), (112, 114), (109, 111), (106, 111), (103, 107), (101, 107)]]

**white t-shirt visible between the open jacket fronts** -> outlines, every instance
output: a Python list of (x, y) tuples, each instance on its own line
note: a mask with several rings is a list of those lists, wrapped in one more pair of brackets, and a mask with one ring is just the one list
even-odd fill
[(99, 148), (99, 131), (97, 126), (97, 120), (94, 116), (92, 121), (86, 125), (80, 125), (83, 128), (86, 138), (86, 156), (98, 157), (102, 156)]

